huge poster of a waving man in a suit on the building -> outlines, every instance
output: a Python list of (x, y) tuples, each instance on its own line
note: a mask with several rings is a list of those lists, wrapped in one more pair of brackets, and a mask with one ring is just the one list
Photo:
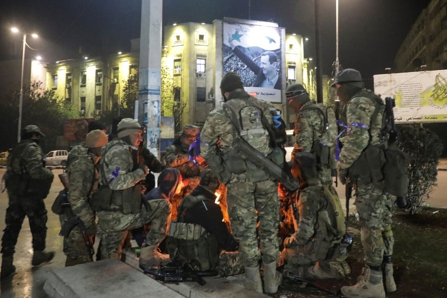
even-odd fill
[(234, 71), (247, 92), (281, 103), (281, 28), (224, 22), (222, 31), (222, 76)]

